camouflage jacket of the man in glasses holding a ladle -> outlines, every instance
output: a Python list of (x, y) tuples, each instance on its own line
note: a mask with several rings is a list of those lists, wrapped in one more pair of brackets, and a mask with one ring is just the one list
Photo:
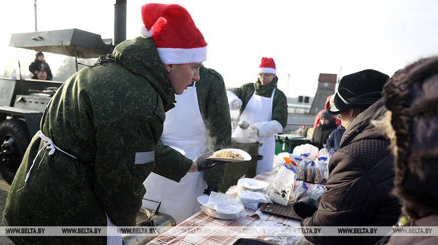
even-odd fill
[[(271, 97), (272, 90), (277, 88), (278, 78), (275, 77), (271, 83), (262, 85), (259, 80), (255, 83), (247, 83), (242, 85), (240, 88), (230, 89), (231, 92), (237, 95), (242, 100), (242, 108), (240, 111), (243, 112), (249, 100), (251, 99), (254, 90), (256, 95), (263, 97)], [(274, 98), (272, 101), (272, 120), (277, 120), (278, 123), (283, 126), (283, 129), (287, 125), (287, 99), (284, 93), (278, 88), (275, 90)]]

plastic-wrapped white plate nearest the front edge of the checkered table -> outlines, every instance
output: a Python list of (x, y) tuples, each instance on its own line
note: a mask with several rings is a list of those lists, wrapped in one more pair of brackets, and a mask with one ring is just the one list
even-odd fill
[(211, 192), (208, 202), (201, 206), (201, 210), (217, 219), (241, 219), (247, 213), (243, 204), (231, 197), (230, 194)]

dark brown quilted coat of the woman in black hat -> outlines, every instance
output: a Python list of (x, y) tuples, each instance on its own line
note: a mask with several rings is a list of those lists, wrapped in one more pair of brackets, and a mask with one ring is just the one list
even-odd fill
[[(382, 100), (354, 118), (330, 158), (327, 190), (302, 226), (392, 226), (401, 210), (390, 195), (394, 162), (389, 141), (370, 124)], [(306, 236), (315, 244), (375, 244), (376, 236)]]

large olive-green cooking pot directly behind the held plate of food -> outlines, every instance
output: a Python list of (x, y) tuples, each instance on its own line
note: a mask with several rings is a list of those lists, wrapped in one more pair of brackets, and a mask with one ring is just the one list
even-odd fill
[(243, 175), (247, 178), (252, 178), (256, 175), (257, 161), (262, 158), (262, 156), (259, 156), (259, 147), (259, 142), (253, 139), (231, 138), (231, 148), (248, 152), (251, 155), (251, 160), (227, 163), (224, 182), (219, 184), (219, 191), (225, 193), (228, 188), (237, 185), (237, 181)]

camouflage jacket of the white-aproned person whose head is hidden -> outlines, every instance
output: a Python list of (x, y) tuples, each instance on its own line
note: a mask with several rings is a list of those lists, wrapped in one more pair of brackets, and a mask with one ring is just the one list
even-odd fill
[[(199, 110), (212, 142), (208, 150), (230, 148), (231, 118), (227, 91), (221, 74), (201, 66), (200, 80), (196, 82)], [(193, 86), (193, 83), (192, 85)], [(226, 165), (204, 172), (204, 179), (221, 183), (224, 181)]]

